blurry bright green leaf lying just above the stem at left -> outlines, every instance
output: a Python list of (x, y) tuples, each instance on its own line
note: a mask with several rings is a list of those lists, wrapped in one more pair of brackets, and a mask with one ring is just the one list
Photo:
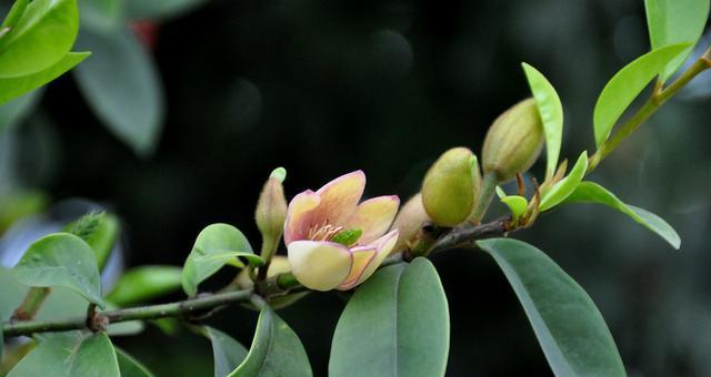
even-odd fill
[(182, 268), (176, 266), (140, 266), (123, 274), (107, 300), (126, 306), (146, 302), (180, 289)]

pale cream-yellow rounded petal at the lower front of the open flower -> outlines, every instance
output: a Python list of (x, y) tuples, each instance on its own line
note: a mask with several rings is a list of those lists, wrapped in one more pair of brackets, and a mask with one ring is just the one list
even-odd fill
[(294, 241), (288, 246), (291, 272), (299, 283), (314, 291), (331, 291), (350, 274), (353, 256), (332, 242)]

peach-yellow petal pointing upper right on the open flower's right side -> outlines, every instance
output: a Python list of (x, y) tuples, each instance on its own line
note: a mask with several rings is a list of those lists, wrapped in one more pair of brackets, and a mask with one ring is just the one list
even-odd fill
[(397, 195), (369, 198), (358, 205), (356, 213), (343, 227), (363, 231), (358, 243), (367, 245), (388, 232), (398, 213), (398, 206), (400, 198)]

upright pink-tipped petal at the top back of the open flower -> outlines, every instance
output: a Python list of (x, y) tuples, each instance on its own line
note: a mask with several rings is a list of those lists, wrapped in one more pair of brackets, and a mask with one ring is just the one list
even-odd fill
[(356, 212), (364, 190), (365, 173), (360, 170), (327, 183), (316, 192), (321, 197), (321, 203), (313, 212), (311, 224), (328, 222), (341, 225)]

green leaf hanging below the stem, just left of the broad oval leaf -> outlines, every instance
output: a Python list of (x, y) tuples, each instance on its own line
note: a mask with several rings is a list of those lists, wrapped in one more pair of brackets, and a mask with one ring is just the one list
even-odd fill
[(310, 377), (311, 365), (297, 334), (270, 308), (259, 315), (247, 358), (230, 377)]

